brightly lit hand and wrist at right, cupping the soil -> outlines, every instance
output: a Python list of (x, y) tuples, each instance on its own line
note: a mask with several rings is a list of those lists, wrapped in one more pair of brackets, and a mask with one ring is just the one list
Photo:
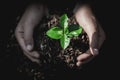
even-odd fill
[(81, 66), (99, 54), (99, 49), (105, 40), (105, 33), (88, 5), (80, 7), (75, 13), (75, 18), (89, 37), (89, 49), (77, 57), (76, 65)]

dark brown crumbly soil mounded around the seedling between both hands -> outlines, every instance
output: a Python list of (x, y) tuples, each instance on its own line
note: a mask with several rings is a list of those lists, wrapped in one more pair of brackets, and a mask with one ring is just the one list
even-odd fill
[[(69, 25), (71, 24), (77, 24), (74, 17), (69, 19)], [(48, 29), (57, 25), (59, 25), (59, 17), (52, 15), (48, 23), (43, 23), (35, 31), (38, 32), (35, 34), (36, 49), (42, 55), (40, 61), (42, 64), (64, 62), (68, 67), (74, 68), (76, 57), (88, 49), (87, 35), (83, 32), (80, 36), (72, 38), (69, 47), (63, 50), (59, 40), (51, 39), (46, 35)]]

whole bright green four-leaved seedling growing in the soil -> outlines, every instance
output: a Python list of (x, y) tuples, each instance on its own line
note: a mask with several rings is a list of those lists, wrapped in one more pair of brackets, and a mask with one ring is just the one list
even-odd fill
[(46, 34), (52, 39), (60, 39), (61, 47), (66, 49), (70, 44), (70, 39), (79, 36), (81, 32), (82, 28), (80, 25), (68, 25), (67, 14), (64, 14), (60, 17), (60, 26), (53, 26)]

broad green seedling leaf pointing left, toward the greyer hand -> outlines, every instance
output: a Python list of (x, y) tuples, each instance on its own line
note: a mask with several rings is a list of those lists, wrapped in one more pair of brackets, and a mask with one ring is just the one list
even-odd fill
[(60, 39), (63, 35), (63, 30), (59, 27), (53, 27), (46, 34), (52, 39)]

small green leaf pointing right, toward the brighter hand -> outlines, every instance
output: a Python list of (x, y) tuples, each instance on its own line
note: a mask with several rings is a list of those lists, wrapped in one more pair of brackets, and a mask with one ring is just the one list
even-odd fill
[[(73, 26), (75, 27), (75, 26)], [(73, 29), (73, 28), (72, 28)], [(74, 36), (79, 36), (82, 32), (82, 27), (77, 27), (76, 25), (76, 28), (74, 28), (73, 30), (71, 30), (71, 32), (68, 34), (69, 37), (74, 37)]]

